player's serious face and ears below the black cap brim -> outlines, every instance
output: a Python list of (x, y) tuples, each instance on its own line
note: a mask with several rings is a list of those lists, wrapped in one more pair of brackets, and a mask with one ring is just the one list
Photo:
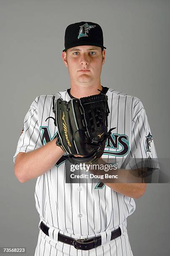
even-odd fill
[[(105, 49), (98, 46), (76, 46), (62, 52), (62, 59), (75, 84), (100, 82), (102, 65), (105, 62)], [(81, 71), (83, 70), (83, 71)]]

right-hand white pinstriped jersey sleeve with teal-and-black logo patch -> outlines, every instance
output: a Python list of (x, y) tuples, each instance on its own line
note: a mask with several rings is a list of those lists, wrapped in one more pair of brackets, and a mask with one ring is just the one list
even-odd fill
[(128, 165), (125, 169), (147, 167), (154, 171), (160, 169), (152, 132), (142, 102), (135, 111), (132, 120), (131, 147)]

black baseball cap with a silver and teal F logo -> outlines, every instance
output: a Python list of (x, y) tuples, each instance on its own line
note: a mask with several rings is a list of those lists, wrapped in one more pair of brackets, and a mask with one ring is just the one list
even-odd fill
[(81, 45), (103, 46), (102, 28), (97, 23), (81, 21), (70, 24), (65, 30), (65, 49)]

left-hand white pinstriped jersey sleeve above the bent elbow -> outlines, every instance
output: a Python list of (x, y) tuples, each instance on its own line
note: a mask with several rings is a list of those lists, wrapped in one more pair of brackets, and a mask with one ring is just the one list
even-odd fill
[(38, 98), (39, 97), (36, 97), (36, 99), (32, 102), (28, 112), (25, 115), (23, 130), (21, 131), (16, 152), (15, 152), (15, 155), (13, 156), (14, 163), (16, 160), (16, 156), (19, 152), (26, 153), (43, 146), (41, 141), (41, 136), (40, 136), (40, 129), (38, 125), (38, 118), (37, 118)]

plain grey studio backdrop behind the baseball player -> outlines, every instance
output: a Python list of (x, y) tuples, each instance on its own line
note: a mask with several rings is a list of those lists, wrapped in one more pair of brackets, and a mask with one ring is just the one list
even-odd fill
[[(0, 246), (34, 255), (39, 215), (36, 179), (20, 183), (13, 155), (30, 104), (70, 87), (61, 58), (65, 28), (93, 21), (103, 29), (102, 85), (135, 95), (145, 107), (157, 155), (169, 157), (170, 1), (0, 0)], [(170, 251), (169, 184), (148, 184), (128, 218), (134, 256)]]

